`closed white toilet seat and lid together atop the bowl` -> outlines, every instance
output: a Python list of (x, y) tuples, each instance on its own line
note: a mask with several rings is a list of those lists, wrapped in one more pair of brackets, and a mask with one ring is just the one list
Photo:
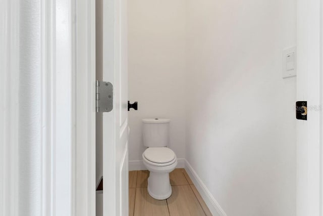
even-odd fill
[(167, 147), (150, 147), (142, 153), (145, 162), (154, 166), (168, 166), (177, 161), (174, 151)]

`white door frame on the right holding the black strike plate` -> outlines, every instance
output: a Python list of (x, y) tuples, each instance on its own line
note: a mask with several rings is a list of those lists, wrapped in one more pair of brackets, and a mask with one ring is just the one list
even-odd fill
[(297, 101), (307, 101), (307, 121), (297, 120), (297, 216), (322, 215), (323, 8), (298, 0)]

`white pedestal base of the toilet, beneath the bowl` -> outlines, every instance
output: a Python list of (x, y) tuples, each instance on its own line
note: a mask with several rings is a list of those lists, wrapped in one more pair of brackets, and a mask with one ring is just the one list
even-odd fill
[(149, 195), (154, 199), (169, 198), (172, 195), (169, 172), (150, 171), (147, 189)]

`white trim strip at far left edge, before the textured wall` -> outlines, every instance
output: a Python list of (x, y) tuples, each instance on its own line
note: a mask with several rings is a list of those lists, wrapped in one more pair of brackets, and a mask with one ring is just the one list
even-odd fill
[[(0, 13), (0, 215), (18, 215), (19, 2), (3, 1)], [(6, 103), (6, 104), (2, 104)]]

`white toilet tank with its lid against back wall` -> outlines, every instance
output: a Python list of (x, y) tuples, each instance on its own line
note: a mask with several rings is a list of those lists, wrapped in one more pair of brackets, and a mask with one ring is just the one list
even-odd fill
[(142, 119), (143, 145), (146, 147), (166, 147), (170, 142), (170, 119)]

